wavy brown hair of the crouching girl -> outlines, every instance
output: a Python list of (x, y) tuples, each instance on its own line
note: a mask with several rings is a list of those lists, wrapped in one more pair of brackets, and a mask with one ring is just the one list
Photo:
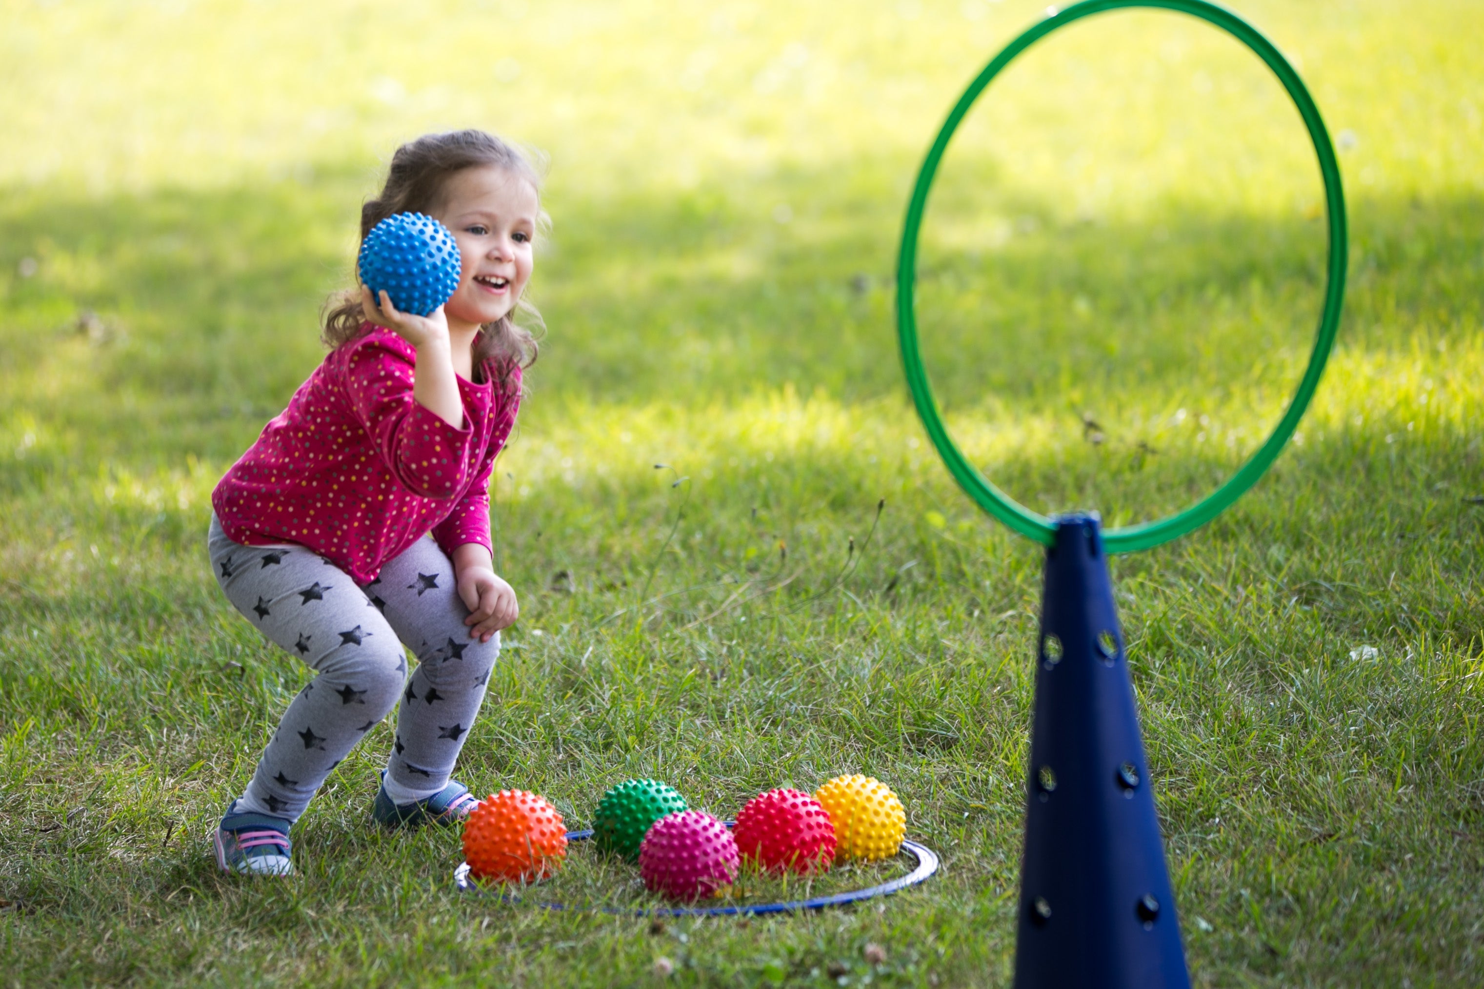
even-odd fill
[[(392, 156), (392, 168), (387, 171), (381, 194), (367, 200), (361, 208), (361, 240), (393, 214), (436, 212), (442, 206), (444, 187), (454, 173), (467, 168), (490, 166), (521, 176), (531, 184), (537, 197), (540, 196), (542, 181), (531, 159), (493, 133), (450, 130), (408, 141)], [(539, 214), (539, 222), (545, 228), (548, 222), (545, 212)], [(537, 329), (543, 326), (540, 313), (524, 298), (516, 300), (510, 314), (484, 323), (473, 343), (476, 377), (485, 362), (491, 362), (496, 380), (505, 386), (515, 368), (536, 363), (540, 350), (536, 334), (512, 319), (516, 313)], [(321, 340), (325, 345), (334, 348), (361, 335), (365, 314), (361, 311), (359, 277), (356, 288), (335, 292), (325, 300), (324, 314), (325, 329)]]

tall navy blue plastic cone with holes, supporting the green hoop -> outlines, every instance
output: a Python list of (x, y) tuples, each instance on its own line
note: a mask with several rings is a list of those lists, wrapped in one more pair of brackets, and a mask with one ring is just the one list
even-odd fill
[(1017, 989), (1189, 989), (1095, 516), (1046, 550)]

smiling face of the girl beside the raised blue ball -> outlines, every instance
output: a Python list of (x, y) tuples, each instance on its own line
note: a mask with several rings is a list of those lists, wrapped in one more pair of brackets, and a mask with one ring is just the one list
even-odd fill
[(448, 328), (467, 331), (508, 316), (531, 279), (536, 190), (496, 166), (467, 168), (444, 185), (436, 218), (459, 242), (463, 271), (444, 304)]

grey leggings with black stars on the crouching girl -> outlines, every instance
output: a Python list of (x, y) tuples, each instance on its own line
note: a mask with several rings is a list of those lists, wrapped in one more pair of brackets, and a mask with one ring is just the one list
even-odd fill
[[(211, 516), (211, 568), (248, 621), (316, 676), (288, 706), (242, 810), (298, 820), (329, 771), (402, 701), (387, 777), (404, 795), (444, 789), (479, 713), (500, 636), (469, 638), (448, 556), (423, 537), (358, 586), (303, 546), (242, 546)], [(402, 644), (417, 654), (407, 676)]]

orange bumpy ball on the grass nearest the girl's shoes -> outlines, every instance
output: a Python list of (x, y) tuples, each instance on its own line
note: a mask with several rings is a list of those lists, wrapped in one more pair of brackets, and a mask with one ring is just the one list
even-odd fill
[(567, 857), (567, 827), (546, 798), (500, 790), (464, 818), (469, 875), (496, 882), (536, 882)]

